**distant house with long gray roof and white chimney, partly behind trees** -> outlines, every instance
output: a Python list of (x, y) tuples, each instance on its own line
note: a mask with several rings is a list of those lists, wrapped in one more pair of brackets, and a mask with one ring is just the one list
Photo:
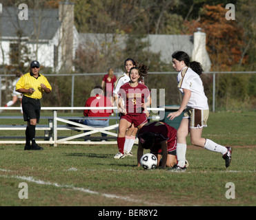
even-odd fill
[[(79, 47), (90, 50), (92, 47), (97, 47), (102, 50), (105, 45), (115, 41), (119, 50), (125, 50), (127, 34), (79, 34)], [(172, 54), (177, 50), (184, 51), (192, 58), (192, 61), (201, 63), (204, 72), (210, 70), (211, 62), (206, 51), (206, 34), (197, 30), (192, 35), (177, 35), (177, 34), (148, 34), (142, 41), (148, 43), (148, 47), (144, 50), (149, 50), (152, 53), (158, 54), (160, 60), (164, 63), (172, 62)]]

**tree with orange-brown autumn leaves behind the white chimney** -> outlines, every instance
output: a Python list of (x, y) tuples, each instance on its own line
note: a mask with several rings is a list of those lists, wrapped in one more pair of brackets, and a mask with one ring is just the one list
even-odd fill
[[(226, 20), (227, 10), (223, 5), (204, 5), (201, 19), (186, 21), (187, 32), (203, 28), (207, 36), (207, 51), (215, 71), (228, 71), (242, 58), (244, 30), (237, 21)], [(246, 57), (242, 58), (242, 63)]]

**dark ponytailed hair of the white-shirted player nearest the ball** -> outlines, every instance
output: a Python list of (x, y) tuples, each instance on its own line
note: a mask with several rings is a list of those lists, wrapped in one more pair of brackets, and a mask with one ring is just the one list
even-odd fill
[(196, 72), (199, 76), (204, 71), (203, 68), (201, 67), (201, 63), (197, 61), (190, 62), (190, 58), (186, 52), (183, 52), (183, 51), (174, 52), (172, 57), (175, 58), (177, 61), (184, 61), (186, 66), (193, 69), (193, 71)]

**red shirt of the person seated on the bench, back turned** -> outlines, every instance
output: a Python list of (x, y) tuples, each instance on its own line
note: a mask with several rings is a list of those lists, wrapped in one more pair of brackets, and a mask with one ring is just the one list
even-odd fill
[[(112, 103), (106, 96), (92, 96), (86, 100), (85, 107), (112, 107)], [(112, 109), (85, 109), (83, 115), (86, 117), (108, 117)]]

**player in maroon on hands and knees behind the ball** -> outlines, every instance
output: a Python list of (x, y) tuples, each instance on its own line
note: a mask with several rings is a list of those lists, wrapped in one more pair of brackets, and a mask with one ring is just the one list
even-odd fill
[(173, 167), (176, 164), (176, 129), (164, 122), (150, 122), (144, 124), (139, 130), (139, 147), (137, 152), (138, 166), (144, 148), (157, 157), (158, 166), (160, 159), (161, 168)]

